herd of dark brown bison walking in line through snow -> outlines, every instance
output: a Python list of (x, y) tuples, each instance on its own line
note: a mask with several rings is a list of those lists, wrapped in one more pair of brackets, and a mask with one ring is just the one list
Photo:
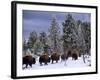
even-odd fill
[[(48, 54), (42, 54), (40, 57), (39, 57), (39, 63), (40, 63), (40, 66), (42, 66), (43, 64), (44, 65), (48, 65), (48, 63), (54, 63), (54, 61), (56, 63), (58, 63), (58, 61), (60, 60), (61, 58), (61, 61), (64, 61), (64, 60), (67, 60), (69, 57), (69, 55), (66, 55), (66, 54), (62, 54), (62, 55), (59, 55), (57, 53), (53, 53), (52, 55), (48, 55)], [(72, 60), (77, 60), (78, 59), (78, 56), (76, 54), (72, 54)], [(32, 67), (32, 64), (35, 64), (36, 63), (36, 59), (34, 57), (32, 57), (31, 55), (27, 55), (27, 56), (24, 56), (23, 57), (23, 65), (25, 65), (24, 68), (27, 68), (28, 65), (30, 67)]]

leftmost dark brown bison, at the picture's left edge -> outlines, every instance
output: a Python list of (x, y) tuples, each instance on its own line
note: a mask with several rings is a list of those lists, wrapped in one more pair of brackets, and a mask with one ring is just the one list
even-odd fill
[(25, 57), (23, 57), (23, 65), (25, 64), (25, 68), (27, 68), (27, 66), (31, 66), (32, 67), (32, 64), (35, 64), (36, 63), (36, 60), (34, 57), (30, 56), (30, 55), (27, 55)]

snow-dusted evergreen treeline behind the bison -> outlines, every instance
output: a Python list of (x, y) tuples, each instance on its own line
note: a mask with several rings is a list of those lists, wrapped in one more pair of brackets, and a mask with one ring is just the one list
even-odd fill
[[(32, 31), (28, 41), (23, 41), (23, 54), (27, 49), (32, 53), (63, 53), (67, 48), (78, 48), (81, 54), (90, 54), (91, 48), (91, 24), (75, 20), (71, 14), (66, 15), (65, 20), (59, 25), (55, 17), (52, 18), (48, 33)], [(62, 28), (62, 29), (61, 29)], [(62, 33), (61, 33), (61, 30)]]

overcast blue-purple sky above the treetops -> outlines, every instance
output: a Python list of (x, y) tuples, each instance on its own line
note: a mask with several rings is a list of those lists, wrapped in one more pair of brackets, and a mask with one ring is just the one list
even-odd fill
[[(51, 19), (53, 16), (56, 17), (60, 28), (62, 29), (62, 22), (65, 20), (67, 12), (47, 12), (47, 11), (33, 11), (23, 10), (23, 37), (28, 39), (30, 32), (33, 30), (38, 34), (42, 31), (48, 33)], [(90, 22), (89, 13), (73, 13), (71, 12), (75, 20), (88, 21)]]

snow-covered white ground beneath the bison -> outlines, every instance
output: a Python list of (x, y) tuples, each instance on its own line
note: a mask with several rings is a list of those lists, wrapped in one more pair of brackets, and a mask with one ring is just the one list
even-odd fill
[[(82, 57), (78, 57), (78, 60), (72, 60), (71, 57), (68, 58), (68, 60), (65, 61), (61, 61), (59, 60), (58, 63), (54, 62), (54, 64), (52, 64), (51, 62), (48, 63), (48, 65), (42, 65), (40, 66), (38, 58), (36, 59), (36, 64), (32, 65), (32, 68), (30, 66), (28, 66), (28, 68), (25, 68), (24, 70), (36, 70), (36, 69), (55, 69), (55, 68), (75, 68), (75, 67), (89, 67), (90, 65), (90, 57), (86, 58), (86, 63), (83, 62), (83, 58)], [(23, 65), (24, 67), (25, 65)]]

